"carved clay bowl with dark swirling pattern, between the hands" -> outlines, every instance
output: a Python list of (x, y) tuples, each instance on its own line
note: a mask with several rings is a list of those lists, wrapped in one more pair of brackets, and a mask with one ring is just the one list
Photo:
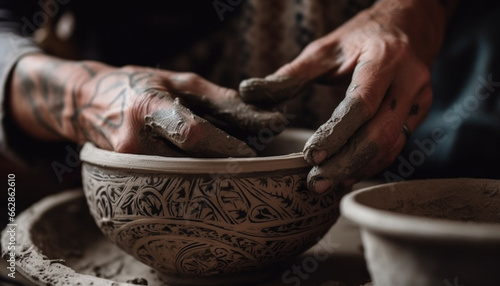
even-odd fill
[(339, 216), (333, 193), (307, 189), (312, 133), (285, 130), (256, 158), (119, 154), (87, 144), (83, 188), (101, 231), (185, 285), (266, 279), (314, 245)]

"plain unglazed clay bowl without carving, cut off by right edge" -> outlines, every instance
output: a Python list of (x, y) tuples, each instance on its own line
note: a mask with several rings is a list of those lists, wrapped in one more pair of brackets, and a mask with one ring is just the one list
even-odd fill
[(500, 285), (500, 181), (434, 179), (344, 197), (375, 285)]

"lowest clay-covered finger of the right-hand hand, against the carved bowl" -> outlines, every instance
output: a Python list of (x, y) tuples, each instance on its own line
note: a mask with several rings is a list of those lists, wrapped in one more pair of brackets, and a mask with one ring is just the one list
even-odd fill
[[(380, 172), (394, 161), (407, 140), (403, 125), (415, 130), (432, 102), (430, 86), (424, 85), (413, 91), (410, 88), (394, 86), (376, 115), (340, 151), (313, 167), (308, 177), (311, 190), (324, 192), (338, 185), (351, 185)], [(408, 96), (396, 98), (398, 94)]]

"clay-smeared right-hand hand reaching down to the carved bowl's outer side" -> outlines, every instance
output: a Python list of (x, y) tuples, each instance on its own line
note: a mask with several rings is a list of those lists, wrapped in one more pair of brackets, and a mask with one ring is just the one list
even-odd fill
[(304, 156), (315, 167), (311, 190), (349, 187), (388, 166), (432, 101), (429, 67), (440, 46), (447, 13), (434, 0), (378, 1), (314, 41), (291, 63), (264, 79), (240, 84), (247, 102), (277, 103), (312, 82), (351, 76), (345, 98), (309, 139)]

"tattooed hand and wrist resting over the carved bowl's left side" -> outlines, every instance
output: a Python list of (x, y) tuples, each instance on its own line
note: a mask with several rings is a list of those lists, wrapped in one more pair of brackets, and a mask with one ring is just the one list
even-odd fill
[(15, 122), (33, 137), (90, 141), (124, 153), (255, 155), (248, 145), (194, 114), (187, 105), (221, 125), (252, 133), (285, 120), (279, 112), (258, 110), (243, 103), (236, 91), (192, 73), (115, 68), (41, 54), (19, 61), (10, 96)]

